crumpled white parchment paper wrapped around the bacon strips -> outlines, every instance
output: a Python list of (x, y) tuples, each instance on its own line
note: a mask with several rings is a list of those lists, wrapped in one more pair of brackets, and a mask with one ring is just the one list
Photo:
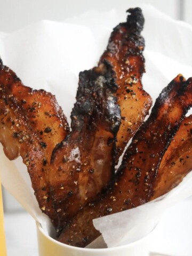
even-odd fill
[[(146, 39), (143, 86), (155, 101), (163, 87), (179, 73), (186, 78), (192, 76), (192, 28), (150, 5), (141, 8), (146, 20), (142, 33)], [(25, 85), (55, 94), (70, 123), (79, 71), (97, 65), (111, 30), (125, 20), (126, 14), (120, 17), (112, 10), (90, 11), (65, 22), (39, 21), (10, 35), (0, 34), (0, 55)], [(10, 162), (2, 146), (0, 171), (3, 186), (49, 234), (50, 222), (39, 210), (26, 166), (21, 158)], [(167, 207), (190, 195), (192, 173), (169, 194), (135, 209), (94, 220), (94, 226), (108, 247), (131, 243), (150, 233)], [(92, 246), (102, 247), (102, 238)]]

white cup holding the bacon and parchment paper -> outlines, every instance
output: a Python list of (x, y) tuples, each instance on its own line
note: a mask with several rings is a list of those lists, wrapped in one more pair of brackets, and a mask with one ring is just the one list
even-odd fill
[(47, 236), (41, 224), (36, 222), (39, 256), (148, 256), (150, 234), (123, 246), (105, 249), (86, 249), (62, 244)]

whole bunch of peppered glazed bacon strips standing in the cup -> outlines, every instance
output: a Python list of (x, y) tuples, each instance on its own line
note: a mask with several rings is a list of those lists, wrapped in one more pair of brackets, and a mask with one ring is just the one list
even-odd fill
[(55, 97), (24, 86), (0, 59), (0, 142), (9, 159), (22, 157), (39, 207), (69, 245), (86, 246), (100, 235), (93, 219), (167, 193), (192, 167), (192, 117), (183, 120), (192, 78), (178, 75), (143, 123), (151, 107), (141, 83), (144, 18), (127, 12), (98, 66), (79, 74), (70, 132)]

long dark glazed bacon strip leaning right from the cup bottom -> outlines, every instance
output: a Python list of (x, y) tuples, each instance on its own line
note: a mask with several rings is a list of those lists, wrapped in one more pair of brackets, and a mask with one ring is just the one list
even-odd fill
[(158, 167), (192, 104), (191, 79), (178, 75), (159, 95), (148, 120), (134, 135), (116, 174), (114, 187), (99, 201), (84, 207), (63, 229), (58, 240), (84, 247), (100, 233), (92, 220), (148, 202)]

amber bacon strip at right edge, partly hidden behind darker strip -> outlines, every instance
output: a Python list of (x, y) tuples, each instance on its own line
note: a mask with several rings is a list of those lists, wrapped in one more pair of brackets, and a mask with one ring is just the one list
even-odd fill
[(159, 166), (151, 200), (176, 187), (192, 169), (192, 115), (183, 119)]

